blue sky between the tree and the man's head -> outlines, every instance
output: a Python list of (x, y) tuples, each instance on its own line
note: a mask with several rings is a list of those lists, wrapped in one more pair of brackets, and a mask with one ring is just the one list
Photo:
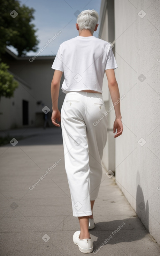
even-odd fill
[[(21, 0), (21, 6), (25, 4), (35, 9), (35, 20), (32, 21), (38, 29), (36, 36), (40, 40), (38, 50), (43, 47), (46, 42), (61, 30), (61, 34), (57, 36), (46, 49), (40, 53), (44, 55), (56, 55), (59, 45), (73, 37), (78, 36), (76, 29), (76, 11), (82, 12), (87, 9), (94, 9), (100, 12), (100, 0)], [(93, 36), (98, 37), (99, 27)], [(8, 47), (16, 54), (13, 47)], [(35, 55), (36, 52), (30, 51), (28, 56)]]

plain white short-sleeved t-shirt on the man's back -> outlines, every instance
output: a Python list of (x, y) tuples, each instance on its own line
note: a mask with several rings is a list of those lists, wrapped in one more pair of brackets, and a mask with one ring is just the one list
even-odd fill
[(62, 91), (102, 93), (106, 69), (117, 68), (111, 44), (94, 36), (77, 36), (60, 44), (52, 68), (64, 72)]

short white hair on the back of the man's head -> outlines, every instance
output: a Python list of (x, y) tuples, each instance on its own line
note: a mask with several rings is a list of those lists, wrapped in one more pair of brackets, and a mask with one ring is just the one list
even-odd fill
[(77, 23), (80, 30), (89, 29), (93, 35), (99, 15), (95, 10), (84, 10), (77, 16)]

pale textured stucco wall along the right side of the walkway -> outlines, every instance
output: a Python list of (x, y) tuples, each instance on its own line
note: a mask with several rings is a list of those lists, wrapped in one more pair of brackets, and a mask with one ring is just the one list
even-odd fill
[(116, 79), (126, 95), (123, 135), (116, 139), (116, 182), (160, 244), (160, 2), (114, 3)]

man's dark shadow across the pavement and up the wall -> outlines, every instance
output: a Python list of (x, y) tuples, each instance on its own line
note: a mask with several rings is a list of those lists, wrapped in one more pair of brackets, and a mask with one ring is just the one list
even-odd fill
[[(98, 249), (102, 243), (105, 246), (106, 244), (142, 239), (148, 233), (148, 212), (148, 200), (145, 205), (143, 191), (140, 187), (140, 176), (137, 173), (136, 213), (138, 217), (131, 216), (130, 218), (96, 223), (95, 228), (89, 230), (92, 235), (98, 238), (97, 241), (93, 242), (93, 251)], [(140, 220), (145, 223), (145, 226)]]

